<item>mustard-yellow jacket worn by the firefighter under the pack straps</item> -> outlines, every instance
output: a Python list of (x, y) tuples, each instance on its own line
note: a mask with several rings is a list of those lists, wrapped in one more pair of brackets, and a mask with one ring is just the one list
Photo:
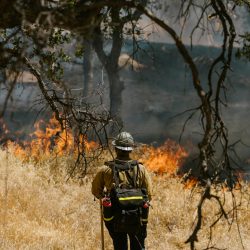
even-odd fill
[[(133, 175), (133, 169), (128, 170), (130, 176)], [(145, 188), (148, 192), (149, 200), (151, 200), (152, 195), (152, 184), (150, 176), (146, 168), (139, 163), (137, 168), (138, 173), (136, 178), (137, 187)], [(119, 171), (120, 183), (128, 184), (129, 181), (124, 171)], [(113, 176), (112, 168), (109, 166), (102, 166), (97, 172), (93, 182), (92, 182), (92, 194), (100, 199), (104, 196), (104, 189), (107, 193), (110, 193), (111, 189), (115, 186), (115, 180)]]

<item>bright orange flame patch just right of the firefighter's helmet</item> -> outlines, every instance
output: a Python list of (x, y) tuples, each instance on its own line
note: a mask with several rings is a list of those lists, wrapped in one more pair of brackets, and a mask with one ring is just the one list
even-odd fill
[(172, 140), (167, 140), (158, 148), (145, 146), (142, 161), (153, 172), (174, 175), (187, 155), (183, 147)]

